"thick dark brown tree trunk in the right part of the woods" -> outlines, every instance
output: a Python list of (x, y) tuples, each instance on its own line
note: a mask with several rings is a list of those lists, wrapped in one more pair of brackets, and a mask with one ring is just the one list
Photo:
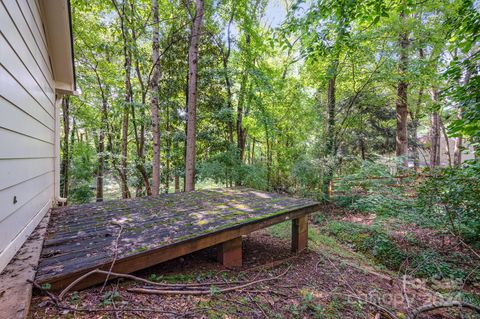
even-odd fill
[[(405, 26), (405, 13), (400, 13), (401, 23)], [(396, 115), (397, 115), (397, 131), (396, 131), (396, 155), (403, 157), (403, 166), (408, 167), (408, 139), (407, 139), (407, 117), (408, 117), (408, 104), (407, 104), (407, 91), (408, 83), (406, 81), (407, 65), (408, 65), (408, 53), (407, 49), (410, 44), (408, 39), (408, 32), (403, 30), (399, 35), (398, 40), (400, 46), (400, 59), (398, 63), (398, 71), (400, 75), (400, 81), (397, 86), (397, 102), (396, 102)]]

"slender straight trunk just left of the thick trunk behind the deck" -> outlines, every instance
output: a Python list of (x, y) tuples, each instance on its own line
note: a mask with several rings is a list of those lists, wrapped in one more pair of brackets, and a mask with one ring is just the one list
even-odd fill
[[(159, 52), (159, 33), (160, 26), (158, 21), (158, 3), (152, 0), (153, 15), (153, 44), (152, 44), (152, 63), (153, 73), (151, 80), (152, 93), (152, 134), (153, 134), (153, 160), (152, 160), (152, 193), (158, 195), (160, 189), (160, 125), (158, 121), (158, 83), (160, 81), (160, 52)], [(167, 177), (168, 178), (168, 177)]]

